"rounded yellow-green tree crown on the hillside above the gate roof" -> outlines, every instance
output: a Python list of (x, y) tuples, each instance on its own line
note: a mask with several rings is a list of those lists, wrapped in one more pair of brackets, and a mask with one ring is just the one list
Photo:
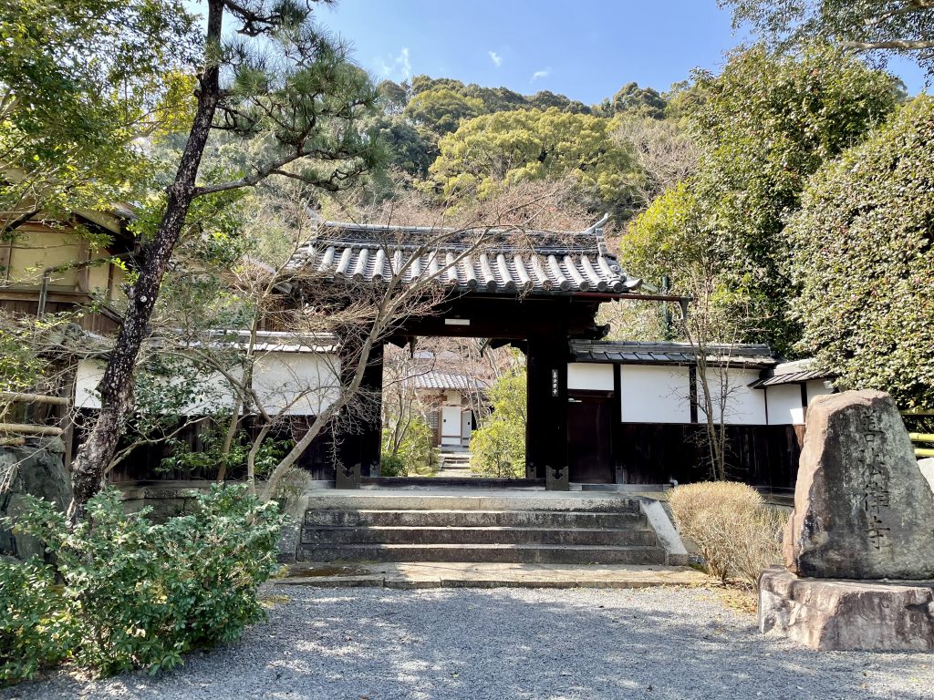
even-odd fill
[(614, 203), (629, 189), (630, 156), (609, 119), (530, 109), (471, 119), (438, 143), (432, 179), (446, 196), (492, 196), (522, 181), (571, 175)]

